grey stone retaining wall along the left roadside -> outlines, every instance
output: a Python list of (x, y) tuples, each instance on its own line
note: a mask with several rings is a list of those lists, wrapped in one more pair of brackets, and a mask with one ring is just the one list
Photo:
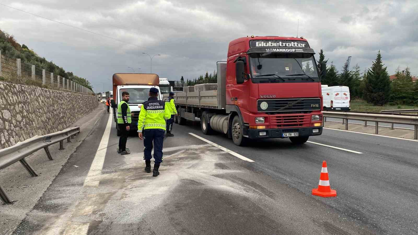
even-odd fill
[(92, 95), (0, 82), (0, 148), (64, 130), (98, 104)]

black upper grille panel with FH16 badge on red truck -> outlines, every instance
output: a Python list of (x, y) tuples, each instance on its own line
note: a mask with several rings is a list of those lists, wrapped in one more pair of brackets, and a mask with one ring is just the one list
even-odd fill
[[(266, 102), (267, 109), (261, 109), (261, 103)], [(258, 112), (289, 112), (321, 110), (320, 98), (257, 100)]]

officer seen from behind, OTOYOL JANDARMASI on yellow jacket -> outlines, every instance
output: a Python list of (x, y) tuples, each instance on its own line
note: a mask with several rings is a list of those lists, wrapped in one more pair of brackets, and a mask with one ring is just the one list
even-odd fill
[(158, 89), (151, 87), (148, 101), (141, 107), (138, 117), (138, 136), (144, 140), (145, 171), (151, 172), (151, 151), (154, 146), (153, 176), (158, 176), (163, 161), (163, 140), (166, 130), (166, 120), (170, 119), (171, 112), (163, 100), (158, 100)]

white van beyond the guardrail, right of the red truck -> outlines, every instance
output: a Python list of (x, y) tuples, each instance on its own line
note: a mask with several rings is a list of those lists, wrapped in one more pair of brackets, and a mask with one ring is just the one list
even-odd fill
[(321, 85), (324, 110), (350, 110), (350, 90), (348, 87), (328, 87)]

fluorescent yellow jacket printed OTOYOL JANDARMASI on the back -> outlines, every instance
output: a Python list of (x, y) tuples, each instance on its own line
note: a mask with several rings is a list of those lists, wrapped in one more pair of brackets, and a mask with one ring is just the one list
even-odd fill
[(166, 120), (171, 118), (171, 111), (164, 101), (151, 97), (141, 107), (138, 117), (138, 132), (146, 129), (166, 130)]

